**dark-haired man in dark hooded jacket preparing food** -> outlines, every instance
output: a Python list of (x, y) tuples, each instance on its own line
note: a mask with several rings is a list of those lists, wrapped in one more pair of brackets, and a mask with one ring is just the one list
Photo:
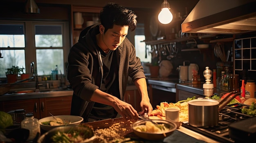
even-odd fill
[(153, 110), (146, 77), (135, 48), (126, 38), (137, 25), (133, 11), (108, 3), (100, 13), (101, 24), (87, 27), (68, 57), (67, 79), (74, 90), (71, 115), (84, 122), (117, 117), (138, 119), (138, 112), (124, 99), (128, 76), (141, 95), (140, 114)]

